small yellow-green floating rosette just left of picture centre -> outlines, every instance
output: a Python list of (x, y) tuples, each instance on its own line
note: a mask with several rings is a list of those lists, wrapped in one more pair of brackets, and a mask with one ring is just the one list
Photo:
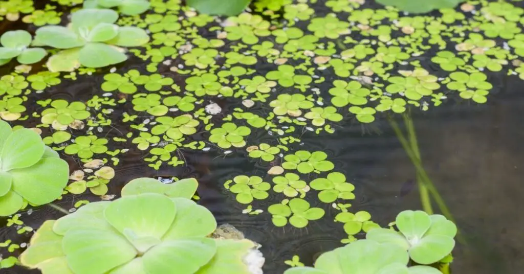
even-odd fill
[(246, 126), (237, 126), (227, 122), (221, 127), (213, 128), (209, 140), (217, 146), (227, 149), (233, 147), (243, 147), (246, 145), (245, 136), (251, 133), (251, 129)]

